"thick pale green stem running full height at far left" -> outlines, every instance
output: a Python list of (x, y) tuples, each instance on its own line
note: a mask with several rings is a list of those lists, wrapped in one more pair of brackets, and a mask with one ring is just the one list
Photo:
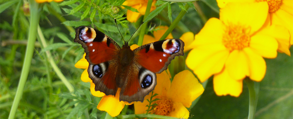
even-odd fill
[(12, 104), (8, 119), (14, 119), (16, 109), (19, 105), (19, 101), (22, 98), (25, 82), (28, 79), (28, 73), (30, 71), (30, 64), (33, 58), (33, 50), (35, 48), (34, 45), (36, 42), (36, 32), (37, 32), (37, 27), (40, 21), (40, 8), (41, 8), (40, 4), (36, 3), (36, 1), (34, 0), (29, 0), (29, 1), (30, 1), (30, 29), (29, 29), (29, 35), (28, 35), (28, 46), (26, 47), (22, 72), (20, 75), (16, 95), (13, 100), (13, 104)]

